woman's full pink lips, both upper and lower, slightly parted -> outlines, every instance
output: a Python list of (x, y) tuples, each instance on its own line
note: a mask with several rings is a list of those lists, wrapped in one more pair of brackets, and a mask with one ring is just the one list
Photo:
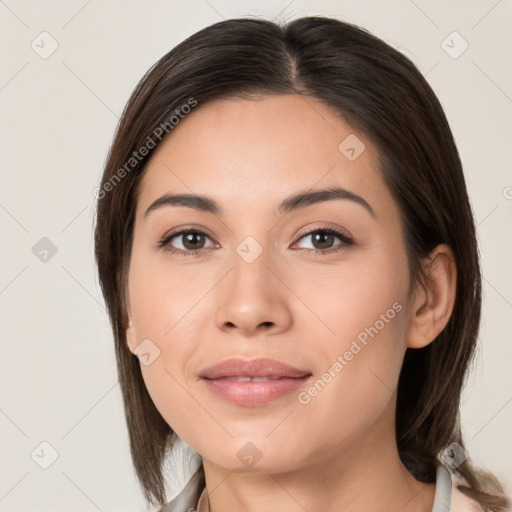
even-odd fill
[(301, 387), (311, 372), (274, 359), (226, 359), (202, 370), (210, 391), (236, 405), (258, 407)]

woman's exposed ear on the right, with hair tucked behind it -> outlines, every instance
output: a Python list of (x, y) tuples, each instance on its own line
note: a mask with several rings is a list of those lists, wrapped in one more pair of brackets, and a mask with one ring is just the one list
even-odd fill
[(425, 262), (426, 280), (414, 290), (407, 347), (423, 348), (446, 327), (455, 304), (457, 268), (450, 247), (438, 245)]

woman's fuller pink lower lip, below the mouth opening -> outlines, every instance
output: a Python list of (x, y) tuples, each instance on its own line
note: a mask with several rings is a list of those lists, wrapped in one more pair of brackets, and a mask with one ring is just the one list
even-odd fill
[(212, 393), (228, 402), (243, 407), (259, 407), (297, 390), (310, 378), (311, 375), (263, 382), (236, 382), (226, 379), (202, 380)]

